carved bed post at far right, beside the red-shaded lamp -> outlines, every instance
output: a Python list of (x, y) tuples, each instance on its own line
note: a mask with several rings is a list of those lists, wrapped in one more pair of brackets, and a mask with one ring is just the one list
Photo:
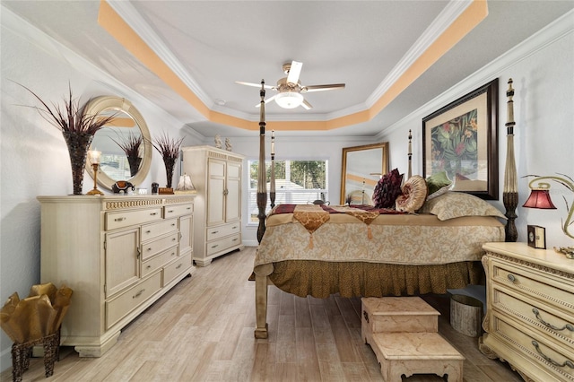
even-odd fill
[(514, 89), (512, 88), (512, 78), (509, 79), (509, 90), (506, 91), (507, 101), (507, 152), (506, 168), (504, 170), (504, 191), (502, 192), (502, 202), (506, 207), (505, 241), (517, 241), (518, 232), (514, 221), (517, 218), (516, 209), (518, 205), (518, 182), (517, 167), (514, 161)]

